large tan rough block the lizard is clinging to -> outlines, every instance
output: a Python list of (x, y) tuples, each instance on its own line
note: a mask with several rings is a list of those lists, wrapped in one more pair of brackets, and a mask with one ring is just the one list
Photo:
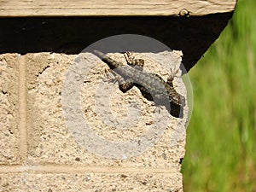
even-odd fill
[[(166, 67), (177, 67), (181, 61), (180, 52), (163, 52), (162, 55), (143, 55), (146, 59), (145, 70), (167, 78), (170, 68), (166, 70), (160, 61), (166, 63), (162, 58), (168, 54), (173, 66), (167, 63)], [(159, 61), (154, 61), (152, 57)], [(115, 55), (115, 59), (125, 60), (122, 55)], [(118, 84), (111, 82), (108, 66), (89, 53), (29, 54), (26, 55), (26, 67), (28, 153), (32, 163), (175, 167), (176, 171), (179, 170), (178, 162), (184, 155), (186, 115), (183, 119), (171, 115), (161, 119), (162, 111), (153, 102), (148, 102), (136, 87), (122, 93)], [(81, 70), (88, 73), (79, 73)], [(72, 73), (77, 77), (72, 77)], [(79, 84), (76, 83), (79, 81)], [(177, 84), (180, 83), (177, 80)], [(66, 95), (68, 91), (79, 94), (79, 112), (73, 114), (83, 116), (89, 127), (86, 134), (92, 134), (91, 138), (83, 136), (87, 137), (84, 143), (83, 133), (79, 132), (81, 129), (73, 130), (67, 125), (65, 115), (69, 112), (64, 110), (63, 91), (66, 91)], [(179, 91), (184, 95), (186, 90)], [(178, 131), (183, 133), (177, 136)], [(81, 134), (80, 138), (78, 133)], [(178, 144), (172, 143), (176, 137)], [(95, 143), (95, 140), (99, 143)], [(121, 149), (113, 151), (111, 148), (115, 145)]]

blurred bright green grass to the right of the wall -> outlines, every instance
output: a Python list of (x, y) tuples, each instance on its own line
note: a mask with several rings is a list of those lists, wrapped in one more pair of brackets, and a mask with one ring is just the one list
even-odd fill
[(255, 8), (255, 0), (239, 0), (229, 25), (189, 71), (194, 109), (185, 192), (256, 192)]

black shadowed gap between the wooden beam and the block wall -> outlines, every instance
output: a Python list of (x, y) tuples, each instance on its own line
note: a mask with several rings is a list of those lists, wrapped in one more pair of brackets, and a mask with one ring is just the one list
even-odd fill
[[(139, 34), (155, 38), (170, 49), (183, 50), (183, 65), (189, 71), (218, 38), (231, 16), (232, 13), (196, 17), (1, 18), (0, 53), (78, 54), (102, 38)], [(145, 45), (133, 51), (147, 50)]]

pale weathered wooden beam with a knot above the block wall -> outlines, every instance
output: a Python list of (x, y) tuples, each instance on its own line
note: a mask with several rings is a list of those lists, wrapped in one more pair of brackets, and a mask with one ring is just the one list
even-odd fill
[(236, 0), (0, 0), (0, 17), (210, 15), (235, 6)]

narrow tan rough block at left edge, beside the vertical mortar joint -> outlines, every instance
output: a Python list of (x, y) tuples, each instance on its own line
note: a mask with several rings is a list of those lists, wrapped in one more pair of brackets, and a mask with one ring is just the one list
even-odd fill
[(19, 55), (0, 55), (0, 165), (20, 163)]

